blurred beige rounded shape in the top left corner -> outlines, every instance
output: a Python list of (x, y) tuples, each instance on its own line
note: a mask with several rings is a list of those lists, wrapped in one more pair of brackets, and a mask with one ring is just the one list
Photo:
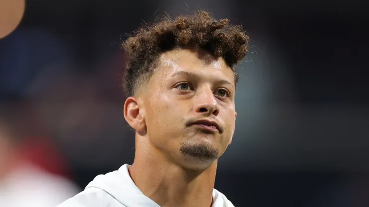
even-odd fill
[(20, 23), (25, 0), (0, 0), (0, 38), (10, 34)]

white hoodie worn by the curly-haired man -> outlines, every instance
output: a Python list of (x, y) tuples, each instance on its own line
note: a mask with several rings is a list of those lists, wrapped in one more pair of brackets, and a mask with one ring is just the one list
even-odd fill
[[(84, 191), (57, 207), (160, 207), (136, 186), (128, 173), (129, 167), (125, 164), (119, 170), (96, 176)], [(212, 207), (234, 207), (215, 189), (212, 197)]]

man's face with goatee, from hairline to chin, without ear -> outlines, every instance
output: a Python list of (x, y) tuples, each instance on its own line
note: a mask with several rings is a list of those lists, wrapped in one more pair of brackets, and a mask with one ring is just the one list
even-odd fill
[(230, 144), (235, 83), (222, 58), (202, 50), (173, 50), (143, 87), (147, 135), (182, 164), (212, 163)]

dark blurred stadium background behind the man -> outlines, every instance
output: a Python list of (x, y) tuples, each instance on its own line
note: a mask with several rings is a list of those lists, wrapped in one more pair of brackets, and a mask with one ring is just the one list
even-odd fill
[[(0, 129), (22, 133), (0, 138), (0, 181), (11, 177), (19, 154), (65, 178), (70, 194), (132, 163), (120, 38), (165, 11), (205, 8), (242, 23), (252, 39), (237, 68), (236, 133), (215, 188), (236, 207), (368, 207), (367, 4), (27, 0), (21, 15), (22, 0), (1, 0), (1, 110), (15, 121), (5, 118)], [(0, 182), (1, 207), (9, 204), (4, 190)]]

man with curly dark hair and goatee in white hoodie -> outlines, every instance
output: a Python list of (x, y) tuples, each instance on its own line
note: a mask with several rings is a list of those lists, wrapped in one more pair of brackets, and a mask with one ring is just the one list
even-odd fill
[(235, 128), (235, 64), (249, 38), (208, 12), (163, 20), (123, 43), (133, 164), (97, 176), (59, 207), (233, 207), (214, 188)]

